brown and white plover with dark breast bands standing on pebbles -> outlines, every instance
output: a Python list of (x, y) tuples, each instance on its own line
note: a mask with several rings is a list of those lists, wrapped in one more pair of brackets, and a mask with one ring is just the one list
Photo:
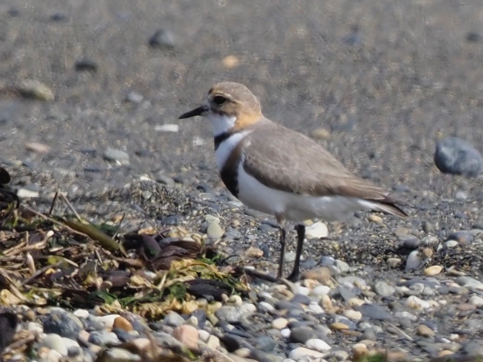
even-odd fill
[(308, 136), (262, 114), (242, 84), (214, 85), (204, 104), (179, 118), (205, 116), (214, 135), (216, 165), (227, 189), (251, 209), (273, 215), (280, 230), (277, 278), (282, 277), (286, 222), (295, 222), (297, 247), (289, 280), (299, 278), (308, 219), (344, 220), (357, 210), (407, 216), (405, 202), (348, 171)]

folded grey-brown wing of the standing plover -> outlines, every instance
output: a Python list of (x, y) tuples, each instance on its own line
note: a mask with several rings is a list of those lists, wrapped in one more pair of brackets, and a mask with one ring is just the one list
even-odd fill
[(386, 212), (406, 215), (393, 205), (406, 203), (356, 177), (325, 148), (301, 133), (267, 122), (244, 141), (251, 142), (251, 146), (244, 149), (243, 167), (266, 186), (313, 196), (357, 197), (385, 204), (390, 209)]

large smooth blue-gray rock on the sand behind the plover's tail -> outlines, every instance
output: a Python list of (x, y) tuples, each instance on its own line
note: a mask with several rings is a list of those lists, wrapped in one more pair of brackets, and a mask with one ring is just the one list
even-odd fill
[(483, 171), (481, 153), (458, 137), (446, 137), (436, 143), (434, 163), (443, 173), (475, 177)]

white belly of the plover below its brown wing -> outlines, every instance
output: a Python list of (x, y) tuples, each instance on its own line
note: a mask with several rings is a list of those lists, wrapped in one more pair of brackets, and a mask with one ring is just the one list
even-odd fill
[(354, 197), (310, 196), (270, 189), (238, 168), (238, 199), (251, 209), (286, 220), (302, 222), (312, 218), (327, 221), (347, 219), (354, 211), (367, 209), (371, 203)]

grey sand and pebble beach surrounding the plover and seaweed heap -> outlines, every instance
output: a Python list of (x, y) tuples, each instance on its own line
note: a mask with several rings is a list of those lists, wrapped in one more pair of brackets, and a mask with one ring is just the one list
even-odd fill
[(480, 1), (7, 0), (0, 44), (1, 166), (39, 212), (62, 191), (89, 221), (183, 230), (274, 273), (274, 220), (224, 188), (209, 125), (177, 119), (224, 80), (414, 205), (313, 220), (302, 281), (249, 279), (156, 319), (11, 303), (2, 276), (30, 343), (5, 359), (148, 361), (153, 343), (232, 362), (483, 355)]

